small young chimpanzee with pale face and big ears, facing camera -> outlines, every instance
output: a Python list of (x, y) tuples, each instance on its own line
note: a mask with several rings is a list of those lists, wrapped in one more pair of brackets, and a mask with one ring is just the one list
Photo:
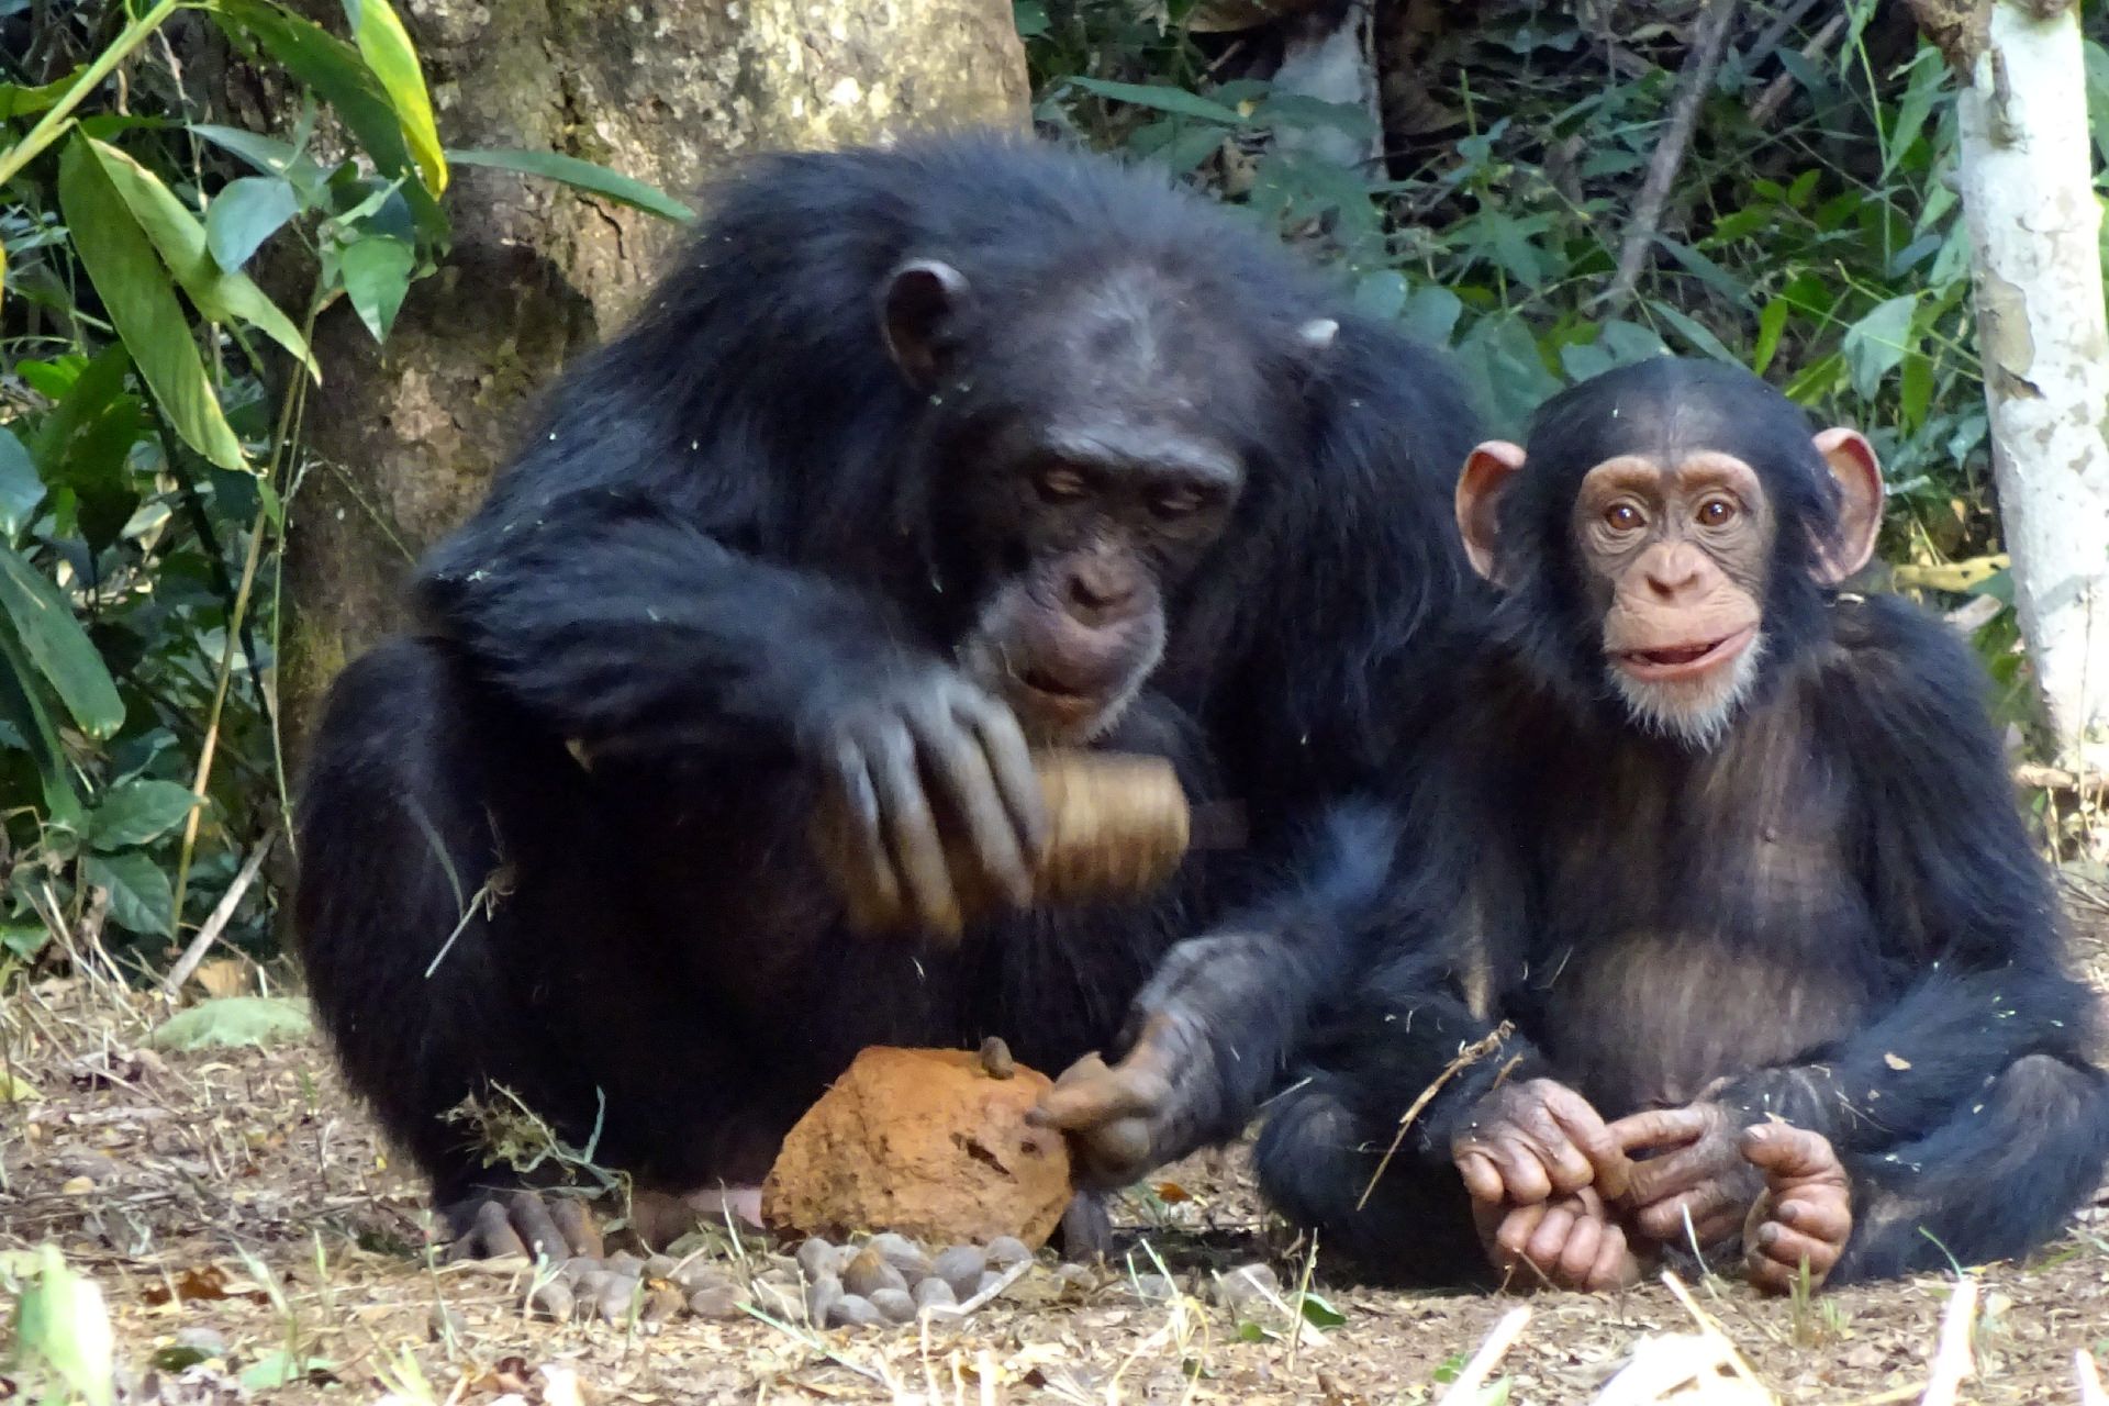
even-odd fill
[(1710, 363), (1611, 371), (1470, 455), (1502, 603), (1440, 824), (1261, 1138), (1320, 1244), (1605, 1288), (1740, 1237), (1784, 1290), (2018, 1254), (2096, 1187), (2092, 999), (1978, 670), (1837, 590), (1879, 519), (1860, 434)]

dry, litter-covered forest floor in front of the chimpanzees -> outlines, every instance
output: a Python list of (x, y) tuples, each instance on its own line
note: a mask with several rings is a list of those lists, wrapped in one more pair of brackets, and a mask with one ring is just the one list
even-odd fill
[[(2109, 991), (2105, 917), (2084, 923), (2079, 963)], [(46, 982), (0, 1003), (11, 1077), (36, 1090), (0, 1100), (0, 1307), (19, 1252), (59, 1246), (110, 1305), (129, 1400), (1421, 1402), (1521, 1305), (1531, 1317), (1493, 1372), (1512, 1402), (1594, 1400), (1666, 1334), (1683, 1336), (1662, 1351), (1721, 1353), (1725, 1336), (1744, 1385), (1782, 1400), (1913, 1402), (1955, 1290), (1953, 1275), (1921, 1275), (1814, 1303), (1717, 1280), (1689, 1298), (1662, 1282), (1601, 1298), (1396, 1294), (1320, 1273), (1312, 1290), (1341, 1322), (1293, 1334), (1286, 1305), (1238, 1322), (1211, 1292), (1215, 1273), (1282, 1244), (1232, 1149), (1166, 1170), (1124, 1208), (1120, 1265), (1086, 1280), (1036, 1265), (964, 1322), (550, 1324), (521, 1311), (519, 1271), (430, 1261), (415, 1178), (321, 1043), (156, 1056), (141, 1050), (154, 1016), (108, 984)], [(753, 1242), (713, 1252), (734, 1275), (768, 1265)], [(1154, 1258), (1179, 1294), (1145, 1296)], [(1280, 1258), (1276, 1273), (1295, 1292), (1303, 1265)], [(1961, 1400), (2082, 1400), (2075, 1349), (2109, 1364), (2109, 1191), (2060, 1244), (1985, 1269), (1961, 1328), (1976, 1358)], [(0, 1358), (0, 1402), (15, 1391)]]

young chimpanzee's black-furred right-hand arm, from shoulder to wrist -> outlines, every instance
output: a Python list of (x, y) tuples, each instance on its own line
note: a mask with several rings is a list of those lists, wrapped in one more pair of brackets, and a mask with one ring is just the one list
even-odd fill
[(1864, 961), (1913, 978), (1847, 1039), (1725, 1100), (1850, 1151), (1951, 1117), (2023, 1056), (2084, 1062), (2092, 1003), (2060, 968), (1976, 660), (1902, 601), (1835, 613), (1843, 651), (1814, 727), (1856, 767), (1854, 858), (1881, 932)]

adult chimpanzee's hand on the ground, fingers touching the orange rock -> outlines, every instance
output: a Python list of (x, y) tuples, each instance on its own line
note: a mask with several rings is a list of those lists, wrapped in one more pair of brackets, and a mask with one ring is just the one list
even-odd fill
[(1027, 1121), (1069, 1134), (1076, 1180), (1086, 1189), (1126, 1187), (1189, 1151), (1192, 1121), (1179, 1090), (1215, 1077), (1208, 1046), (1192, 1020), (1154, 1014), (1118, 1065), (1086, 1054), (1063, 1071)]

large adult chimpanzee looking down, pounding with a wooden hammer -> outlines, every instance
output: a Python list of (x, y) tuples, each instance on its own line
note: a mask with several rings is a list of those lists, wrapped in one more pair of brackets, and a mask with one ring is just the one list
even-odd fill
[[(1367, 679), (1472, 580), (1432, 354), (1143, 171), (953, 139), (713, 207), (306, 780), (318, 1008), (466, 1250), (593, 1244), (447, 1119), (494, 1088), (671, 1191), (753, 1187), (871, 1043), (1078, 1060), (1040, 1113), (1107, 1180), (1236, 1132), (1384, 877)], [(968, 881), (1027, 894), (1057, 742), (1173, 757), (1251, 839), (960, 940)], [(848, 932), (829, 797), (920, 934)]]

